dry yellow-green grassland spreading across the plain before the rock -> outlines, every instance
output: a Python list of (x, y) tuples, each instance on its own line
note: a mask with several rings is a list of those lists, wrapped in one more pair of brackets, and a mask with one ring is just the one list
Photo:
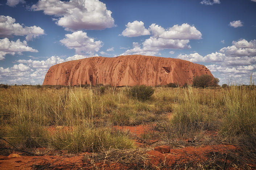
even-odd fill
[[(138, 149), (137, 138), (116, 126), (152, 123), (153, 131), (139, 138), (144, 145), (154, 146), (152, 138), (159, 140), (158, 145), (173, 148), (191, 146), (185, 139), (194, 139), (196, 146), (228, 143), (247, 150), (244, 160), (251, 160), (256, 153), (255, 96), (254, 85), (215, 89), (190, 85), (9, 86), (0, 89), (0, 137), (21, 149), (44, 147), (70, 153), (96, 152), (102, 156), (113, 150), (117, 153)], [(216, 135), (204, 135), (208, 132)], [(229, 154), (236, 158), (235, 153)], [(222, 153), (220, 159), (223, 156)], [(201, 164), (218, 167), (216, 162)], [(162, 165), (158, 167), (164, 168)], [(197, 167), (194, 162), (189, 165)], [(186, 167), (177, 167), (183, 166)]]

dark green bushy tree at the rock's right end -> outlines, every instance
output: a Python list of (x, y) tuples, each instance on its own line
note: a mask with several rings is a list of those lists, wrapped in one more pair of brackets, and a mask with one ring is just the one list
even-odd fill
[(195, 76), (193, 79), (193, 85), (195, 87), (206, 88), (207, 86), (217, 86), (219, 78), (214, 78), (210, 75)]

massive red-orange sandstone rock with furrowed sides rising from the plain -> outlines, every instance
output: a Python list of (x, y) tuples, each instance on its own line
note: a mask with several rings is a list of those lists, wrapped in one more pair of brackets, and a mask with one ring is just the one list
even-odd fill
[(183, 85), (203, 74), (212, 76), (204, 65), (181, 59), (143, 55), (91, 57), (51, 66), (43, 85)]

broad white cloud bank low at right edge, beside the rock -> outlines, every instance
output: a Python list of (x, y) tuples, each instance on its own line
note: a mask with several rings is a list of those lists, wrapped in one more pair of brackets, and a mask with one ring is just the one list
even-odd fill
[(227, 83), (227, 79), (233, 77), (232, 82), (249, 84), (251, 73), (256, 76), (256, 40), (247, 41), (241, 39), (233, 41), (232, 46), (223, 47), (218, 52), (201, 56), (198, 53), (178, 55), (177, 58), (192, 61), (212, 63), (206, 67), (214, 75), (222, 76), (220, 84)]

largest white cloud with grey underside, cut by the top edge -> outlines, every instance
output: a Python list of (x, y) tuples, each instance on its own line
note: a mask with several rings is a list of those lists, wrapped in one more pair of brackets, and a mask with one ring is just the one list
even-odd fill
[(58, 17), (56, 24), (70, 31), (103, 30), (115, 26), (112, 12), (99, 0), (39, 0), (31, 8)]

